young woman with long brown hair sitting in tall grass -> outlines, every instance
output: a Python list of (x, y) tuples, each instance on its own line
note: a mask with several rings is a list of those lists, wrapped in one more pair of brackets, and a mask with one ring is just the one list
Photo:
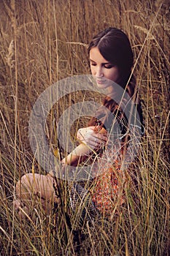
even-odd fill
[[(128, 96), (136, 104), (137, 111), (142, 121), (142, 110), (139, 99), (136, 95), (136, 81), (131, 75), (134, 63), (134, 56), (128, 37), (123, 31), (116, 28), (108, 28), (93, 37), (88, 47), (90, 59), (90, 70), (96, 80), (98, 88), (106, 89), (107, 96), (104, 98), (104, 109), (113, 113), (120, 125), (120, 137), (108, 144), (109, 130), (115, 122), (112, 116), (99, 109), (96, 118), (91, 118), (89, 126), (79, 129), (77, 140), (80, 145), (75, 148), (65, 159), (62, 159), (62, 166), (78, 165), (86, 157), (93, 158), (93, 172), (97, 173), (89, 188), (91, 203), (100, 214), (111, 215), (115, 206), (123, 203), (123, 189), (127, 182), (124, 170), (121, 168), (123, 154), (128, 148), (128, 120), (123, 107), (113, 99), (117, 86), (125, 90)], [(113, 83), (112, 83), (113, 82)], [(124, 103), (125, 106), (126, 102)], [(89, 148), (96, 151), (95, 156), (89, 154)], [(89, 154), (89, 155), (88, 155)], [(88, 155), (88, 156), (87, 156)], [(96, 160), (96, 161), (95, 161)], [(97, 162), (97, 165), (96, 165)], [(99, 170), (100, 169), (100, 170)], [(95, 176), (95, 175), (94, 175)], [(55, 195), (53, 184), (55, 183), (53, 173), (47, 176), (28, 173), (18, 181), (16, 185), (15, 201), (16, 210), (20, 213), (29, 211), (29, 204), (40, 200), (42, 208), (49, 213), (58, 197)], [(77, 189), (78, 188), (78, 189)], [(75, 193), (82, 193), (83, 188), (74, 184), (71, 189), (72, 206), (75, 206)], [(81, 197), (82, 198), (82, 197)]]

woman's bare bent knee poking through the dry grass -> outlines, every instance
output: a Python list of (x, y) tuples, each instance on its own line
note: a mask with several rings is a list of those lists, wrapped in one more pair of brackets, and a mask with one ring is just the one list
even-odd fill
[(53, 203), (58, 200), (53, 189), (53, 177), (50, 175), (40, 175), (38, 173), (28, 173), (24, 175), (16, 184), (15, 210), (19, 211), (20, 207), (31, 214), (34, 208), (42, 208), (45, 214), (50, 214), (53, 210)]

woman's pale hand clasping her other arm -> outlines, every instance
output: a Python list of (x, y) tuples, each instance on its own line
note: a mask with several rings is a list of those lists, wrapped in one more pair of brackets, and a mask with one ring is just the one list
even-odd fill
[(107, 144), (107, 131), (101, 127), (85, 127), (80, 128), (77, 132), (77, 140), (85, 143), (92, 149), (98, 149)]

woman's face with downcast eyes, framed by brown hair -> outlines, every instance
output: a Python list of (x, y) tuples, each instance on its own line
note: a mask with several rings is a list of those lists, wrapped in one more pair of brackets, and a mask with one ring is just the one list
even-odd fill
[(108, 88), (109, 92), (113, 90), (113, 83), (108, 83), (110, 80), (115, 83), (119, 80), (119, 71), (117, 66), (114, 66), (109, 61), (104, 59), (97, 47), (90, 50), (90, 69), (99, 88)]

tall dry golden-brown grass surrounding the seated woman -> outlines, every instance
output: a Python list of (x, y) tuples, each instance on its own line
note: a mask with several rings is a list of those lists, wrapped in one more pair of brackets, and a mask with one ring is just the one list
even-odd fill
[[(0, 1), (1, 256), (169, 255), (169, 20), (169, 1)], [(28, 140), (36, 98), (62, 78), (90, 74), (88, 42), (108, 26), (128, 34), (142, 99), (136, 200), (127, 190), (121, 214), (87, 224), (78, 241), (67, 204), (49, 216), (37, 208), (20, 219), (13, 207), (15, 184), (33, 169), (44, 172)]]

